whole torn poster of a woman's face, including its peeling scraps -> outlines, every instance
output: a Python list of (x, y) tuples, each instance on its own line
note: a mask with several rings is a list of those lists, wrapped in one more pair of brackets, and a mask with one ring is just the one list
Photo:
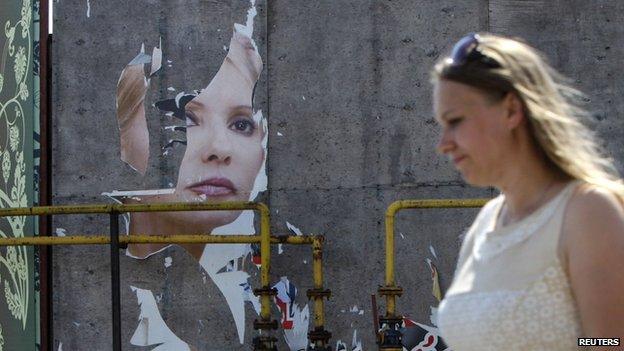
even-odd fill
[[(234, 26), (227, 54), (220, 68), (209, 84), (200, 90), (173, 93), (175, 96), (156, 102), (146, 101), (150, 78), (160, 69), (162, 55), (166, 57), (166, 52), (160, 52), (160, 48), (155, 48), (151, 56), (142, 50), (122, 71), (117, 86), (117, 120), (122, 161), (142, 177), (153, 176), (147, 172), (150, 162), (149, 146), (154, 142), (150, 141), (148, 132), (150, 118), (153, 116), (150, 116), (151, 112), (146, 112), (145, 107), (150, 103), (161, 115), (165, 114), (169, 124), (162, 130), (169, 141), (166, 145), (159, 145), (164, 150), (160, 157), (168, 157), (170, 152), (182, 149), (184, 153), (176, 169), (176, 181), (170, 183), (168, 188), (115, 190), (108, 193), (108, 196), (122, 203), (221, 203), (253, 201), (259, 192), (266, 190), (264, 165), (267, 124), (262, 111), (254, 107), (253, 101), (254, 89), (263, 64), (252, 39), (256, 10), (253, 1), (251, 4), (246, 25)], [(149, 71), (148, 75), (145, 74), (146, 68)], [(252, 211), (132, 213), (126, 219), (128, 235), (255, 233)], [(167, 246), (129, 245), (127, 254), (139, 259), (137, 262), (140, 262), (151, 256), (158, 256), (157, 254), (163, 252)], [(180, 246), (198, 261), (203, 272), (207, 273), (221, 291), (232, 312), (239, 340), (243, 343), (244, 305), (250, 302), (256, 311), (259, 308), (257, 297), (250, 293), (248, 283), (250, 275), (237, 264), (251, 252), (250, 245)], [(171, 335), (168, 341), (171, 343), (170, 347), (177, 349), (178, 346), (175, 345), (188, 342), (188, 346), (192, 349), (192, 341), (177, 338), (171, 332), (175, 326), (167, 326), (165, 321), (158, 317), (160, 312), (154, 302), (155, 295), (149, 289), (135, 286), (131, 288), (141, 309), (140, 322), (134, 335), (143, 335), (142, 328), (147, 327), (144, 326), (142, 319), (147, 318), (145, 316), (152, 316), (149, 328), (152, 328), (154, 321), (157, 320), (162, 324), (158, 328), (169, 330), (165, 334)], [(206, 317), (198, 316), (198, 319)], [(304, 327), (307, 328), (307, 324)], [(149, 346), (162, 341), (155, 339), (137, 341), (139, 339), (133, 337), (131, 343)]]

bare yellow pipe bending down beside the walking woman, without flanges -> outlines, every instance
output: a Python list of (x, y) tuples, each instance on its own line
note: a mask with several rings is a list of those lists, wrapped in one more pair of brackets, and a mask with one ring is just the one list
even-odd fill
[[(394, 280), (394, 217), (397, 212), (406, 208), (467, 208), (481, 207), (489, 199), (424, 199), (399, 200), (388, 206), (386, 210), (386, 286), (395, 287)], [(394, 317), (396, 296), (386, 295), (386, 316)]]

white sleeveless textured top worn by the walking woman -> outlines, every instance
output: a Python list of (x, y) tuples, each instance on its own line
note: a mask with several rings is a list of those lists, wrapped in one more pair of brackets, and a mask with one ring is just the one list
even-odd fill
[(568, 351), (581, 337), (557, 246), (578, 182), (521, 221), (496, 228), (504, 196), (488, 202), (462, 243), (438, 327), (453, 351)]

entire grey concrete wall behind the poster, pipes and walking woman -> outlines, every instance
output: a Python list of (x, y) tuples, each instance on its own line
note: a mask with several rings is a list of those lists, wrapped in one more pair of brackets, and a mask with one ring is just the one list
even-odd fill
[[(137, 177), (119, 160), (114, 132), (119, 73), (141, 42), (151, 49), (162, 37), (173, 64), (152, 81), (157, 88), (148, 98), (168, 97), (169, 86), (187, 91), (204, 86), (223, 59), (232, 24), (244, 22), (248, 2), (92, 1), (90, 17), (84, 0), (54, 5), (54, 203), (101, 203), (100, 193), (122, 188), (119, 184), (128, 189), (167, 186), (175, 179), (175, 156), (153, 157), (149, 168), (158, 176), (149, 178)], [(269, 190), (261, 200), (271, 207), (273, 232), (287, 233), (289, 222), (304, 233), (326, 235), (326, 282), (333, 291), (327, 327), (334, 343), (350, 344), (357, 330), (364, 349), (374, 348), (370, 294), (383, 283), (388, 204), (494, 195), (464, 185), (434, 152), (439, 132), (428, 72), (465, 33), (518, 35), (543, 50), (588, 94), (593, 128), (622, 165), (624, 128), (618, 111), (624, 102), (618, 95), (624, 91), (624, 4), (619, 1), (259, 0), (258, 10), (254, 39), (265, 70), (256, 103), (268, 116), (270, 132)], [(163, 118), (152, 118), (152, 135), (164, 124)], [(151, 151), (160, 153), (157, 143)], [(434, 262), (444, 290), (459, 235), (475, 214), (427, 210), (399, 216), (397, 232), (403, 235), (397, 237), (397, 280), (405, 289), (399, 312), (431, 325), (429, 307), (436, 301), (425, 262), (433, 259), (429, 246), (437, 252)], [(59, 218), (55, 227), (71, 234), (104, 233), (107, 219)], [(124, 284), (140, 279), (156, 285), (174, 331), (203, 340), (199, 349), (249, 349), (238, 344), (231, 314), (215, 287), (182, 278), (196, 276), (197, 265), (179, 248), (169, 255), (175, 272), (164, 270), (161, 261), (136, 263), (124, 257)], [(273, 280), (287, 275), (305, 303), (304, 291), (311, 287), (309, 249), (285, 247), (273, 258)], [(55, 248), (54, 336), (64, 350), (109, 348), (108, 270), (104, 247)], [(181, 284), (186, 297), (167, 295)], [(198, 289), (204, 290), (194, 295)], [(197, 296), (211, 298), (198, 301)], [(128, 340), (138, 307), (129, 289), (122, 297)], [(364, 314), (350, 312), (354, 305)], [(201, 327), (186, 317), (197, 308), (209, 316)], [(247, 345), (253, 318), (247, 311)], [(124, 344), (124, 349), (133, 348)]]

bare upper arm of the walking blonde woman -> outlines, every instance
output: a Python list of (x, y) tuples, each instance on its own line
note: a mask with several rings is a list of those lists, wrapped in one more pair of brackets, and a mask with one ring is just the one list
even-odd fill
[(562, 234), (582, 336), (624, 342), (622, 203), (606, 190), (583, 187), (568, 205)]

